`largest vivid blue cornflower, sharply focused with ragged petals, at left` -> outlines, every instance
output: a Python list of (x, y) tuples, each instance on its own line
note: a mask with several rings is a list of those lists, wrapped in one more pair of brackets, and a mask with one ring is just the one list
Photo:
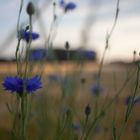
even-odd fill
[(5, 90), (16, 92), (20, 96), (23, 94), (24, 85), (27, 94), (33, 93), (37, 89), (42, 87), (41, 79), (39, 76), (33, 78), (20, 78), (20, 77), (6, 77), (2, 83)]

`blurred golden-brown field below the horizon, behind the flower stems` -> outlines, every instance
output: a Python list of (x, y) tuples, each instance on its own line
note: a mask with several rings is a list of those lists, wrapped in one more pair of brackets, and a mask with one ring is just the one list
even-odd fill
[[(38, 135), (41, 137), (41, 132), (46, 133), (48, 137), (47, 140), (53, 139), (60, 107), (62, 107), (62, 114), (66, 108), (70, 107), (73, 109), (74, 123), (83, 121), (85, 117), (84, 109), (87, 104), (91, 106), (91, 114), (93, 115), (95, 113), (94, 104), (96, 99), (91, 93), (91, 87), (96, 82), (98, 67), (97, 63), (92, 62), (86, 62), (82, 65), (77, 65), (72, 62), (48, 63), (45, 65), (42, 76), (43, 88), (31, 97), (32, 111), (28, 127), (30, 139), (38, 139)], [(0, 68), (1, 83), (5, 76), (14, 75), (16, 73), (16, 64), (13, 62), (1, 63)], [(99, 96), (99, 108), (106, 105), (117, 92), (120, 90), (121, 92), (119, 96), (116, 96), (115, 101), (110, 104), (109, 110), (105, 112), (104, 118), (99, 122), (94, 131), (94, 137), (92, 136), (90, 138), (91, 140), (112, 140), (112, 123), (114, 119), (117, 132), (120, 130), (126, 112), (125, 99), (133, 93), (136, 77), (135, 69), (136, 66), (134, 64), (120, 63), (105, 65), (103, 67), (101, 76), (102, 94)], [(38, 71), (40, 71), (40, 69), (37, 65), (33, 73), (36, 74)], [(67, 85), (69, 92), (67, 95), (64, 95), (65, 100), (61, 99), (62, 91), (60, 81), (56, 77), (53, 79), (52, 75), (57, 75), (59, 78), (65, 77), (66, 75), (69, 77), (70, 83)], [(140, 91), (139, 87), (137, 94), (139, 94)], [(2, 85), (0, 85), (0, 89), (0, 140), (9, 140), (8, 137), (10, 137), (10, 130), (12, 128), (12, 117), (8, 112), (6, 104), (13, 104), (15, 96), (14, 94), (9, 94), (9, 92), (4, 91)], [(63, 105), (66, 105), (66, 108), (64, 108)], [(44, 110), (43, 112), (41, 108)], [(46, 115), (46, 118), (43, 118), (43, 114), (44, 116)], [(89, 116), (89, 125), (90, 120), (92, 120), (92, 115)], [(40, 121), (43, 119), (46, 121), (46, 124), (42, 124)], [(135, 140), (136, 134), (133, 129), (135, 123), (138, 121), (140, 122), (140, 112), (139, 104), (136, 104), (121, 140)], [(38, 122), (40, 122), (40, 127), (42, 127), (43, 130), (37, 128)], [(77, 135), (80, 135), (81, 130), (75, 131)], [(66, 136), (62, 137), (61, 140), (66, 140)]]

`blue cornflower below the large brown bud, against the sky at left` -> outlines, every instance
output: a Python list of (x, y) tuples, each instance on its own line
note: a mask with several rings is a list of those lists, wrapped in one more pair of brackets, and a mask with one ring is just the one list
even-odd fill
[(19, 39), (23, 39), (25, 40), (26, 42), (29, 42), (30, 40), (30, 36), (31, 36), (31, 39), (32, 40), (36, 40), (39, 38), (39, 34), (38, 33), (35, 33), (35, 32), (30, 32), (30, 31), (27, 31), (27, 30), (20, 30), (19, 33), (18, 33), (18, 38)]

